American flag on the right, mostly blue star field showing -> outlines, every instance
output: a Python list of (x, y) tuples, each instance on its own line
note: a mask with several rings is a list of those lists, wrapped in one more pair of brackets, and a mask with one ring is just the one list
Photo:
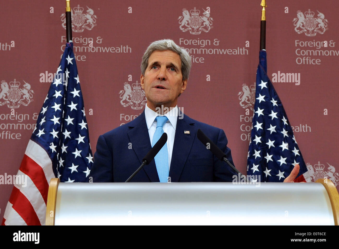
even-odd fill
[(286, 112), (267, 74), (266, 51), (261, 50), (257, 69), (247, 175), (260, 175), (261, 182), (282, 182), (295, 164), (295, 182), (311, 181)]

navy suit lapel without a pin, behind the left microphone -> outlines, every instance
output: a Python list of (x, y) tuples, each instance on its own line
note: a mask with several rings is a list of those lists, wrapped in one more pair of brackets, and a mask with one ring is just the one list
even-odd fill
[[(127, 135), (132, 143), (132, 149), (137, 154), (141, 164), (142, 159), (152, 148), (152, 145), (151, 141), (149, 140), (149, 134), (145, 120), (145, 111), (141, 113), (137, 119), (135, 119), (137, 123), (132, 123), (129, 126), (132, 127), (132, 129), (127, 132)], [(148, 165), (145, 165), (143, 170), (146, 172), (147, 176), (152, 182), (159, 182), (159, 176), (154, 160), (152, 160), (152, 162)]]

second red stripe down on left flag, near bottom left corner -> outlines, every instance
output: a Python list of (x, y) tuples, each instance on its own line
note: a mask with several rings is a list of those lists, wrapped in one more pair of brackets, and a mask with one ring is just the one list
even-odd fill
[(13, 187), (9, 202), (12, 203), (12, 208), (21, 216), (27, 225), (41, 225), (31, 202), (29, 202), (26, 196), (22, 194), (16, 186)]

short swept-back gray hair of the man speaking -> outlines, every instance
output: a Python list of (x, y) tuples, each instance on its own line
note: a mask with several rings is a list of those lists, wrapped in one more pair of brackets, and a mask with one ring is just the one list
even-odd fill
[(171, 50), (177, 53), (181, 59), (182, 80), (184, 81), (188, 79), (192, 67), (190, 54), (188, 54), (188, 52), (185, 49), (180, 48), (178, 45), (176, 45), (176, 43), (171, 39), (154, 41), (148, 46), (141, 60), (140, 69), (142, 75), (145, 75), (145, 71), (148, 66), (148, 58), (155, 50), (159, 51)]

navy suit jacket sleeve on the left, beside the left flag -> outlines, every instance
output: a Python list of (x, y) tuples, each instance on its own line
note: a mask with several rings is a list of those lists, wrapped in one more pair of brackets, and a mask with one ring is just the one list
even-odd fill
[[(94, 163), (89, 173), (93, 182), (113, 182), (113, 155), (105, 138), (98, 138), (97, 151), (94, 154)], [(91, 178), (89, 178), (91, 180)]]

